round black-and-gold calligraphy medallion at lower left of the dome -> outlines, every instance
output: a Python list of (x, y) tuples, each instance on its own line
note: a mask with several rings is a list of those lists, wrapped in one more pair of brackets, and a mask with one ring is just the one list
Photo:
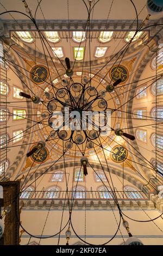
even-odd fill
[[(32, 150), (33, 148), (36, 148), (36, 146), (32, 147), (30, 150)], [(36, 150), (30, 157), (35, 163), (42, 163), (47, 160), (48, 154), (48, 149), (42, 148), (41, 150)]]

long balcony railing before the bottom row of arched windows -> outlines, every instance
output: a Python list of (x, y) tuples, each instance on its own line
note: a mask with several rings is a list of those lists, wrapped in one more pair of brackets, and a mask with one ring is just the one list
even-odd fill
[[(117, 199), (148, 199), (142, 191), (115, 191)], [(23, 191), (20, 200), (22, 199), (43, 199), (43, 200), (106, 200), (113, 199), (111, 191)]]

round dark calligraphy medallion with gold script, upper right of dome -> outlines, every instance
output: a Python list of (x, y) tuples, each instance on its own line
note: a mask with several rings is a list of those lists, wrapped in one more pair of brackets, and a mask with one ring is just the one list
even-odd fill
[(124, 83), (128, 80), (128, 70), (125, 68), (125, 66), (122, 65), (115, 65), (112, 67), (112, 69), (109, 72), (109, 76), (112, 80), (112, 82), (117, 81), (119, 78), (121, 78), (122, 82)]

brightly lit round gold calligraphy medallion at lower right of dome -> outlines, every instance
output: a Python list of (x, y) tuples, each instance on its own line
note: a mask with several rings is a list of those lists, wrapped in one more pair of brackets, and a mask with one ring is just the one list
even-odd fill
[(127, 157), (127, 149), (122, 146), (116, 146), (110, 154), (111, 159), (115, 162), (123, 162)]

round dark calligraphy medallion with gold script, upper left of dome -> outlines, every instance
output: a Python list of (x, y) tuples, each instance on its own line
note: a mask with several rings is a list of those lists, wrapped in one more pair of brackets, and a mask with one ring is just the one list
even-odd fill
[(48, 69), (43, 65), (36, 65), (30, 71), (30, 79), (37, 84), (44, 83), (49, 76)]

